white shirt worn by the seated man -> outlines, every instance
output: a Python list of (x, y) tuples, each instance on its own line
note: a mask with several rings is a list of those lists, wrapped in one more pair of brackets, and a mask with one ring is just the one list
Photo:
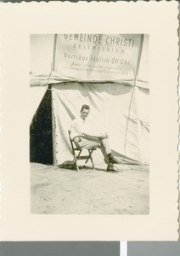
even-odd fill
[(73, 139), (76, 136), (82, 136), (82, 133), (86, 133), (86, 131), (86, 121), (80, 116), (74, 119), (70, 125), (70, 138)]

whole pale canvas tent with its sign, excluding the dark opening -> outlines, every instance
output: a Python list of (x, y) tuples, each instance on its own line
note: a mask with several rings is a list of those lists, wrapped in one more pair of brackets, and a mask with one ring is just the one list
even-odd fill
[[(109, 133), (116, 156), (149, 164), (148, 54), (148, 35), (31, 35), (31, 121), (48, 94), (53, 165), (73, 159), (68, 129), (82, 104), (91, 106), (90, 129)], [(103, 161), (99, 151), (94, 157)]]

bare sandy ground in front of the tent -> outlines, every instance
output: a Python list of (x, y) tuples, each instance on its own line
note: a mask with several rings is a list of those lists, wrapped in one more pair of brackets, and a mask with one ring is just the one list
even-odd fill
[(31, 163), (31, 213), (149, 214), (149, 166), (80, 172)]

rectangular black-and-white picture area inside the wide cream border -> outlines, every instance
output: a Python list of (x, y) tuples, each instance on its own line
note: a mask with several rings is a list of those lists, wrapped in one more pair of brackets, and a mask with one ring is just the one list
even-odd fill
[(31, 213), (149, 214), (149, 35), (30, 46)]

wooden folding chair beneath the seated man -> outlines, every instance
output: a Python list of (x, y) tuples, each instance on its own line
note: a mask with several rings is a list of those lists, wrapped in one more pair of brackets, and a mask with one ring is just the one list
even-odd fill
[[(70, 138), (70, 131), (68, 130), (69, 133), (69, 138)], [(79, 172), (79, 166), (77, 165), (77, 160), (86, 160), (85, 164), (87, 164), (88, 160), (91, 160), (92, 162), (92, 166), (93, 166), (93, 170), (95, 170), (95, 166), (93, 163), (93, 151), (96, 150), (96, 148), (76, 148), (76, 144), (74, 143), (74, 141), (70, 138), (70, 145), (71, 145), (71, 149), (72, 149), (72, 154), (75, 160), (75, 166), (76, 166), (76, 170), (77, 172)], [(88, 154), (87, 155), (81, 155), (82, 154), (82, 150), (87, 149)]]

